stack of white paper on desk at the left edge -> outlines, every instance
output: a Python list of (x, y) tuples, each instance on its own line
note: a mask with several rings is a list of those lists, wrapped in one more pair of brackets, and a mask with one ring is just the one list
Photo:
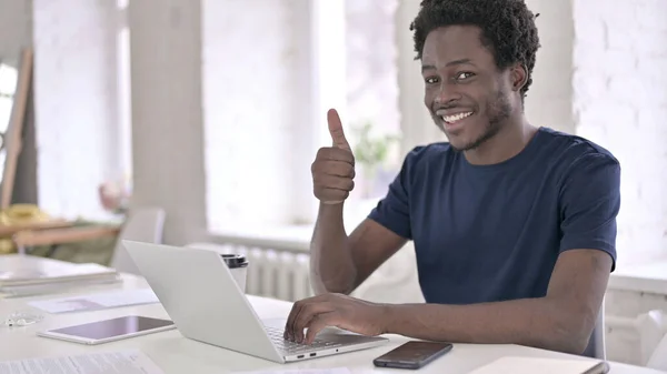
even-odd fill
[(43, 286), (108, 283), (119, 279), (116, 270), (98, 264), (74, 264), (29, 256), (0, 256), (0, 293), (32, 293)]

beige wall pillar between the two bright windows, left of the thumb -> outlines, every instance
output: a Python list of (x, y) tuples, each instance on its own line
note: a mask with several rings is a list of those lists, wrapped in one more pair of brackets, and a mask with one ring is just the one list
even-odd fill
[(130, 1), (133, 196), (166, 210), (165, 242), (206, 230), (201, 2)]

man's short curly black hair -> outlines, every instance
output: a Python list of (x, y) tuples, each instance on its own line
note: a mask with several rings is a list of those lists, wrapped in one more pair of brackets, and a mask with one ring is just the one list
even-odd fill
[(481, 29), (481, 43), (489, 48), (498, 68), (517, 62), (526, 68), (528, 77), (521, 89), (525, 97), (532, 83), (535, 54), (540, 47), (535, 26), (538, 16), (532, 14), (524, 0), (422, 0), (417, 18), (410, 23), (416, 60), (421, 59), (426, 37), (432, 30), (454, 24), (477, 26)]

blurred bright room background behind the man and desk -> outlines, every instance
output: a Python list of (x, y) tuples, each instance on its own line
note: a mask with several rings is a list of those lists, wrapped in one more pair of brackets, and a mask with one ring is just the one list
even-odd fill
[[(526, 2), (540, 13), (541, 41), (528, 119), (588, 138), (621, 163), (608, 332), (620, 336), (613, 360), (639, 362), (633, 319), (667, 310), (667, 2)], [(248, 253), (251, 292), (298, 297), (308, 292), (295, 284), (306, 276), (317, 209), (310, 163), (331, 142), (327, 109), (339, 110), (357, 158), (350, 229), (412, 146), (445, 140), (424, 108), (414, 60), (418, 6), (0, 0), (2, 208), (31, 204), (59, 222), (96, 225), (158, 208), (165, 243)], [(12, 158), (9, 140), (21, 144)], [(410, 251), (359, 292), (419, 299)], [(279, 276), (290, 285), (278, 290), (269, 280)]]

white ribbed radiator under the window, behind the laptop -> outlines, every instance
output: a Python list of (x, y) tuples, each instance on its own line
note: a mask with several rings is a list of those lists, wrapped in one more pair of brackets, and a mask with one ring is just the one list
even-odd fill
[(242, 243), (193, 243), (190, 247), (213, 250), (219, 253), (243, 254), (249, 262), (246, 293), (285, 301), (297, 301), (312, 295), (308, 280), (309, 255), (297, 249), (277, 250), (270, 245)]

